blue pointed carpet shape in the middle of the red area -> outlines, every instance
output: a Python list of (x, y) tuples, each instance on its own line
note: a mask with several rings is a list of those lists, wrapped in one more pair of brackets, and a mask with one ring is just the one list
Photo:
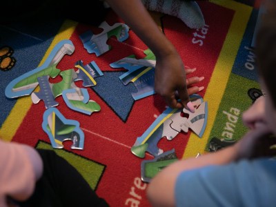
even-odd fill
[[(97, 77), (97, 85), (91, 87), (103, 101), (114, 110), (124, 122), (135, 102), (131, 96), (132, 92), (137, 92), (133, 83), (124, 83), (119, 79), (125, 72), (103, 72), (103, 76)], [(122, 106), (124, 104), (124, 106)]]

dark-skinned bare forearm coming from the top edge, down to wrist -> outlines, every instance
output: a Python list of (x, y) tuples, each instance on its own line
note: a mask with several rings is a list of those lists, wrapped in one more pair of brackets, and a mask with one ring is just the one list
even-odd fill
[(159, 30), (141, 0), (107, 0), (109, 6), (146, 43), (157, 59), (177, 53), (175, 47)]

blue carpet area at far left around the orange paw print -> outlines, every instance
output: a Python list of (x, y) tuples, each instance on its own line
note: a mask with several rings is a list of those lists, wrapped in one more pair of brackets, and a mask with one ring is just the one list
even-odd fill
[(61, 27), (62, 21), (39, 26), (1, 26), (0, 25), (0, 48), (9, 46), (14, 50), (12, 57), (16, 59), (14, 67), (8, 71), (0, 70), (0, 127), (8, 117), (10, 110), (16, 103), (16, 99), (8, 99), (5, 96), (5, 88), (13, 79), (33, 70), (39, 63), (52, 39)]

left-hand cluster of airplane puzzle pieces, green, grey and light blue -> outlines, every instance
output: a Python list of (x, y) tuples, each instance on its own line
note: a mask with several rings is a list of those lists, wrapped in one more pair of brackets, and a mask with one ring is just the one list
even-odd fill
[[(79, 122), (63, 117), (61, 112), (54, 108), (59, 105), (55, 98), (62, 95), (69, 108), (86, 115), (101, 110), (98, 103), (89, 99), (86, 88), (78, 88), (75, 85), (75, 81), (83, 81), (84, 87), (97, 84), (95, 77), (102, 76), (103, 73), (95, 61), (86, 66), (83, 66), (83, 61), (77, 61), (75, 64), (78, 68), (77, 72), (74, 69), (61, 71), (57, 68), (57, 64), (64, 55), (71, 55), (74, 50), (72, 41), (59, 42), (42, 66), (11, 81), (5, 91), (8, 98), (31, 95), (33, 103), (44, 101), (46, 112), (44, 112), (42, 127), (48, 134), (53, 148), (63, 148), (62, 142), (65, 140), (73, 142), (72, 149), (83, 149), (84, 143), (84, 134), (79, 128)], [(61, 75), (62, 81), (49, 82), (50, 77), (55, 78), (58, 75)], [(39, 92), (32, 92), (37, 86), (40, 87)]]

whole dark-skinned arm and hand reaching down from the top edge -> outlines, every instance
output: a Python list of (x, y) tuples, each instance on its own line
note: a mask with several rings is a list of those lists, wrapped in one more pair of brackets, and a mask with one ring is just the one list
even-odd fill
[[(109, 6), (146, 43), (157, 59), (155, 92), (164, 97), (168, 106), (181, 108), (190, 101), (186, 85), (186, 72), (175, 46), (159, 30), (141, 0), (107, 0)], [(181, 103), (177, 103), (175, 92)]]

